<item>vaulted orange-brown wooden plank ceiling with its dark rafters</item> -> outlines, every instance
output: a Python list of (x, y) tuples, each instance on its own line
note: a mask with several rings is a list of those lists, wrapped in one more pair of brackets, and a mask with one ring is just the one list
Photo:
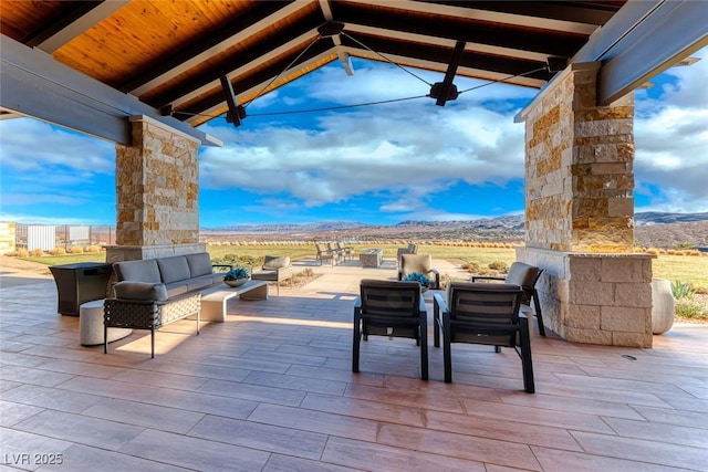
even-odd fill
[(242, 104), (348, 56), (445, 73), (458, 42), (457, 75), (538, 88), (625, 1), (3, 1), (0, 33), (197, 126), (228, 109), (221, 76)]

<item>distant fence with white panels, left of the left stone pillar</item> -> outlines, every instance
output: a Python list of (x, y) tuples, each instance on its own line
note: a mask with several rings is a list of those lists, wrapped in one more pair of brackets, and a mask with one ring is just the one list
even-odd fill
[(14, 225), (17, 249), (51, 251), (74, 245), (115, 245), (115, 227), (108, 224), (21, 224)]

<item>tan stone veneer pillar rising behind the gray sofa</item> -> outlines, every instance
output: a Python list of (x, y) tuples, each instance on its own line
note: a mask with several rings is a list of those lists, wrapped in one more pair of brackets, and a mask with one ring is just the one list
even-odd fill
[(107, 262), (206, 251), (199, 243), (199, 141), (145, 116), (116, 146), (116, 243)]

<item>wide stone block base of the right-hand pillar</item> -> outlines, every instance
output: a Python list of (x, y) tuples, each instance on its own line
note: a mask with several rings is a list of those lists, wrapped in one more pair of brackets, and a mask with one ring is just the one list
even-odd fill
[(654, 256), (520, 247), (517, 259), (543, 269), (537, 285), (543, 319), (564, 339), (652, 346)]

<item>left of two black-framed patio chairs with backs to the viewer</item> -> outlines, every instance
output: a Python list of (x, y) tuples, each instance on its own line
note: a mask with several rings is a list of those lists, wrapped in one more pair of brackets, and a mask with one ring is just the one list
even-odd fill
[(420, 347), (420, 378), (428, 379), (428, 313), (418, 282), (362, 280), (354, 305), (352, 371), (358, 373), (360, 344), (368, 336), (407, 337)]

